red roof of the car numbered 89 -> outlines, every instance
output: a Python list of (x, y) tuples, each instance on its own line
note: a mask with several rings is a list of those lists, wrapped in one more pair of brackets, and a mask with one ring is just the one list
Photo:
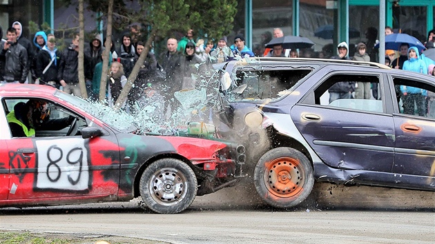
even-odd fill
[(0, 84), (0, 96), (5, 94), (54, 94), (57, 89), (50, 85), (35, 85), (35, 84), (18, 84), (18, 83), (1, 83)]

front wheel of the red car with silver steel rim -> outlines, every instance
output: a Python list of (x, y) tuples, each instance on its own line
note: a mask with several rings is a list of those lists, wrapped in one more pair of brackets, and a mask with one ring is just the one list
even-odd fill
[(140, 179), (140, 195), (146, 207), (160, 214), (177, 214), (189, 207), (197, 194), (195, 173), (178, 159), (151, 163)]

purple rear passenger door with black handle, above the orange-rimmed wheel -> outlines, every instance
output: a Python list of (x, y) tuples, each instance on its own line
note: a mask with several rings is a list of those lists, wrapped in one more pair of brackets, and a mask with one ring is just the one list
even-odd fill
[(313, 91), (312, 102), (305, 100), (293, 106), (293, 122), (330, 167), (391, 172), (394, 160), (392, 114), (385, 113), (383, 100), (373, 97), (330, 99), (334, 98), (331, 87), (338, 81), (342, 82), (342, 88), (354, 89), (355, 81), (379, 84), (380, 79), (365, 74), (331, 75)]

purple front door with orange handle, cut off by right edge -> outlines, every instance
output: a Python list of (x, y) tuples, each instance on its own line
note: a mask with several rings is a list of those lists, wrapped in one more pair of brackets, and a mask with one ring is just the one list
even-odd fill
[(428, 94), (435, 97), (430, 91), (435, 91), (435, 86), (415, 77), (396, 77), (393, 81), (398, 88), (408, 92), (406, 95), (400, 93), (398, 110), (394, 113), (396, 155), (393, 172), (435, 176), (435, 113), (432, 112), (435, 110), (431, 109), (435, 103), (427, 101), (426, 104), (425, 101)]

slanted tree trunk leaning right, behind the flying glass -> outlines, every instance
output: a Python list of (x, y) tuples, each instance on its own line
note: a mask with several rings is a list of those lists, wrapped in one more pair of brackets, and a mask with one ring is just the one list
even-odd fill
[(151, 43), (153, 43), (155, 39), (155, 34), (157, 33), (157, 28), (154, 28), (151, 30), (151, 34), (148, 37), (148, 40), (146, 40), (144, 51), (139, 56), (139, 59), (137, 59), (135, 63), (135, 67), (133, 67), (133, 70), (131, 71), (130, 76), (128, 77), (128, 81), (124, 88), (122, 88), (121, 94), (119, 94), (118, 100), (115, 102), (114, 108), (115, 110), (119, 110), (119, 107), (124, 103), (124, 101), (127, 99), (128, 92), (130, 92), (131, 88), (133, 87), (133, 83), (135, 83), (137, 73), (139, 73), (140, 66), (144, 63), (146, 59), (146, 55), (148, 55), (148, 52), (151, 47)]

